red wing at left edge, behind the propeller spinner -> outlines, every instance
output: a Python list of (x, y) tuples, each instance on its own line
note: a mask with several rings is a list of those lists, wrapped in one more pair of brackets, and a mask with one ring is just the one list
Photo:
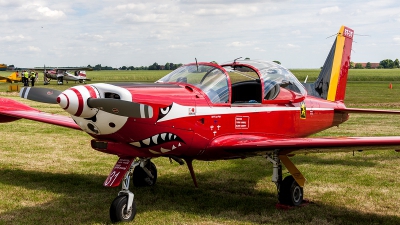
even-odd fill
[(74, 120), (68, 116), (41, 112), (15, 100), (0, 98), (0, 123), (18, 119), (29, 119), (81, 130)]

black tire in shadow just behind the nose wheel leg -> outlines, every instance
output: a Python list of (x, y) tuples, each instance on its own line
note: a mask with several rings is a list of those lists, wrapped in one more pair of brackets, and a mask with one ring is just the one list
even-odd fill
[(153, 162), (148, 162), (145, 167), (148, 170), (150, 170), (154, 178), (149, 177), (149, 175), (147, 175), (147, 173), (143, 170), (142, 167), (137, 166), (133, 170), (133, 175), (132, 175), (133, 185), (135, 185), (135, 187), (149, 187), (156, 184), (157, 181), (156, 165), (154, 165)]

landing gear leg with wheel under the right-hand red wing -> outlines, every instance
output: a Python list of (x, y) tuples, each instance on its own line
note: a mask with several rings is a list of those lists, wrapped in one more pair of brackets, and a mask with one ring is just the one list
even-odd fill
[[(298, 206), (303, 202), (303, 186), (305, 178), (286, 155), (278, 155), (275, 151), (266, 157), (272, 164), (272, 182), (278, 190), (278, 200), (283, 205)], [(282, 180), (282, 164), (289, 170), (290, 176)]]

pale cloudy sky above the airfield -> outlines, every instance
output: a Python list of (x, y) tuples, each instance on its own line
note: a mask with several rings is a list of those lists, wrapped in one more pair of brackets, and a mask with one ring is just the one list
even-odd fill
[(320, 68), (339, 28), (353, 62), (400, 58), (396, 0), (0, 0), (0, 63), (149, 66), (238, 57)]

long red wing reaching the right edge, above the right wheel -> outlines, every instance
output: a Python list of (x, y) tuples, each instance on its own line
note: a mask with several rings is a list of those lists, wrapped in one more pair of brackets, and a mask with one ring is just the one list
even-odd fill
[(400, 137), (268, 138), (227, 135), (214, 139), (207, 151), (224, 150), (239, 155), (259, 155), (281, 150), (281, 154), (400, 150)]

